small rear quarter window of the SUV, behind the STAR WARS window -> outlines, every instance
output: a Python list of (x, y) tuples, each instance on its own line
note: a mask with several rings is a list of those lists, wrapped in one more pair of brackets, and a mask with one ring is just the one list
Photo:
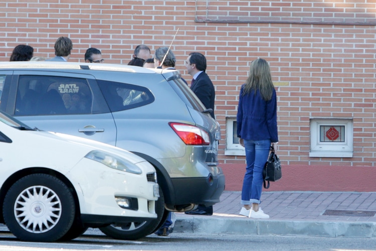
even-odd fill
[(120, 82), (97, 80), (111, 111), (127, 110), (147, 105), (154, 101), (149, 89)]

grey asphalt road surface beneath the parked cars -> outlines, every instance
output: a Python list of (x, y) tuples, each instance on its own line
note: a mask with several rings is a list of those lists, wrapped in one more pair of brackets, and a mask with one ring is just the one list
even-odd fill
[(67, 242), (22, 242), (10, 232), (0, 233), (0, 250), (376, 250), (376, 238), (302, 237), (240, 234), (151, 234), (136, 241), (108, 238), (97, 230)]

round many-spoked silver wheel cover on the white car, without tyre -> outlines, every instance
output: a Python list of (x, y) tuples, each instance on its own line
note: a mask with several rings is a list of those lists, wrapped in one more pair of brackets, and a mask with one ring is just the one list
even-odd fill
[(17, 222), (32, 233), (54, 228), (61, 217), (61, 210), (59, 196), (44, 186), (32, 186), (22, 191), (14, 207)]

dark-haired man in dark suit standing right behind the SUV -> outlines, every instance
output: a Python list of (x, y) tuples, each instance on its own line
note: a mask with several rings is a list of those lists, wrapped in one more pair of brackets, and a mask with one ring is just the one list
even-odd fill
[[(210, 115), (214, 117), (214, 100), (216, 92), (212, 80), (206, 74), (206, 58), (203, 54), (192, 52), (185, 61), (186, 70), (193, 77), (191, 89), (201, 100), (207, 109), (211, 109)], [(194, 215), (213, 215), (213, 206), (199, 205), (197, 209), (185, 212)]]

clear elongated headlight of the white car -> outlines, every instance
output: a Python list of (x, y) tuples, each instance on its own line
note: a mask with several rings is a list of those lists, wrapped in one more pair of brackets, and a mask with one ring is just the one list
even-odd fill
[(114, 156), (112, 154), (94, 150), (88, 153), (85, 158), (98, 161), (110, 168), (128, 172), (128, 173), (134, 173), (134, 174), (141, 174), (142, 171), (140, 168), (138, 168), (133, 163), (127, 161), (124, 158), (121, 158), (119, 156)]

